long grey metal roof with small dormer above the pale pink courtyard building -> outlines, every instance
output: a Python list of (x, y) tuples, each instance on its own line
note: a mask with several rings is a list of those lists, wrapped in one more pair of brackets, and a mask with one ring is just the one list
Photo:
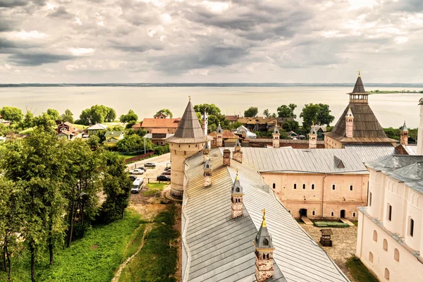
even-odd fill
[[(334, 157), (340, 159), (345, 167), (335, 166)], [(243, 162), (260, 172), (369, 173), (357, 154), (346, 149), (243, 147)]]

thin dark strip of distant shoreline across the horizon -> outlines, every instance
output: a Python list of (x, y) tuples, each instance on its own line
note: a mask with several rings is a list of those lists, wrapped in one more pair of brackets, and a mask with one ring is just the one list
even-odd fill
[[(354, 87), (354, 83), (0, 83), (1, 87)], [(423, 88), (423, 83), (366, 83), (366, 87)]]

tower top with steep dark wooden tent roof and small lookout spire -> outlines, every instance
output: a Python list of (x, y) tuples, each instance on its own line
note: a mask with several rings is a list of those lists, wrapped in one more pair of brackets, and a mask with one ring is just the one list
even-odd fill
[(388, 138), (372, 109), (369, 106), (369, 93), (359, 73), (350, 104), (339, 118), (332, 131), (324, 133), (325, 148), (344, 148), (346, 144), (396, 145), (396, 140)]

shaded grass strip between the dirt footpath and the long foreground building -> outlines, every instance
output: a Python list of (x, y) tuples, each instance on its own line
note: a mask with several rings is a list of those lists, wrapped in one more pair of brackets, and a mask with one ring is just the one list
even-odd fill
[(176, 207), (172, 204), (159, 213), (152, 223), (152, 230), (145, 237), (142, 250), (125, 266), (119, 282), (161, 281), (173, 282), (178, 259), (175, 224)]

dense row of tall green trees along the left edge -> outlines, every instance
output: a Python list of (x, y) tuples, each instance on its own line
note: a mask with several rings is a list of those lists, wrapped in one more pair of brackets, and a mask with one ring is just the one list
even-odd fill
[[(94, 222), (123, 217), (130, 179), (123, 157), (66, 142), (35, 130), (0, 145), (0, 245), (2, 269), (11, 278), (11, 258), (30, 260), (32, 281), (41, 256), (70, 247)], [(100, 204), (99, 194), (106, 200)]]

